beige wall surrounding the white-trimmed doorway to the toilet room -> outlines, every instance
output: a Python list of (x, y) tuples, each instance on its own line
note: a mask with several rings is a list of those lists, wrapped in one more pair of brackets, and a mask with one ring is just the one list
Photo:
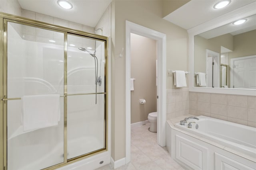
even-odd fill
[[(166, 68), (170, 70), (188, 70), (188, 33), (162, 19), (162, 2), (158, 0), (113, 1), (112, 14), (112, 158), (119, 160), (126, 154), (125, 53), (119, 57), (122, 48), (125, 50), (125, 21), (166, 34)], [(166, 86), (175, 88), (172, 74), (167, 76)]]

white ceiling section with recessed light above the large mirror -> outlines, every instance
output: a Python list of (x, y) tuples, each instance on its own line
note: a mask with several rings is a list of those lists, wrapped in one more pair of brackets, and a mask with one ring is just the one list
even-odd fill
[(191, 0), (168, 16), (164, 17), (184, 29), (190, 29), (206, 21), (222, 16), (256, 0), (231, 0), (231, 3), (222, 9), (214, 9), (213, 6), (220, 0)]

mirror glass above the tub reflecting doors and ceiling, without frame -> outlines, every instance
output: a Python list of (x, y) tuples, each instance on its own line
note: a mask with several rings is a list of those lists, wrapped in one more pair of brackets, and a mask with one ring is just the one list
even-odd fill
[(256, 15), (194, 36), (195, 73), (206, 74), (206, 86), (256, 89)]

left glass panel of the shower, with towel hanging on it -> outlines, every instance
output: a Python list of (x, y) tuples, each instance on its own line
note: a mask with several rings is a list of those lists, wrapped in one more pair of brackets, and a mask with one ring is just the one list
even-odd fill
[(63, 77), (64, 33), (7, 23), (8, 170), (39, 170), (64, 162)]

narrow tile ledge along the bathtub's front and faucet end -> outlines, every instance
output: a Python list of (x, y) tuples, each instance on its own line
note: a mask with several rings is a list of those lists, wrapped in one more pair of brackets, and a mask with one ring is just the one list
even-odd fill
[(180, 120), (184, 119), (185, 117), (190, 117), (190, 116), (196, 116), (196, 115), (191, 115), (191, 114), (182, 115), (182, 116), (180, 116), (180, 117), (176, 117), (176, 118), (173, 118), (173, 119), (168, 119), (166, 122), (168, 123), (168, 125), (169, 125), (172, 129), (174, 129), (174, 130), (176, 130), (176, 131), (182, 132), (182, 133), (184, 133), (184, 134), (186, 134), (186, 135), (189, 135), (189, 136), (191, 136), (191, 137), (194, 137), (194, 138), (196, 138), (196, 139), (198, 139), (198, 140), (200, 140), (200, 141), (203, 141), (203, 142), (205, 142), (205, 143), (208, 143), (208, 144), (213, 145), (213, 146), (215, 146), (215, 147), (218, 147), (218, 148), (220, 148), (220, 149), (226, 150), (226, 151), (228, 151), (228, 152), (230, 152), (230, 153), (232, 153), (232, 154), (241, 156), (242, 158), (245, 158), (245, 159), (250, 160), (250, 161), (252, 161), (252, 162), (256, 162), (256, 158), (253, 158), (252, 156), (243, 154), (243, 153), (241, 153), (241, 152), (239, 152), (239, 151), (230, 149), (229, 147), (225, 147), (225, 146), (222, 146), (222, 145), (220, 145), (220, 144), (217, 144), (217, 143), (215, 143), (215, 142), (213, 142), (213, 141), (210, 141), (210, 140), (208, 140), (208, 139), (205, 139), (204, 137), (199, 137), (199, 136), (197, 136), (197, 135), (194, 135), (194, 134), (189, 133), (189, 132), (187, 132), (187, 131), (182, 131), (181, 129), (175, 127), (175, 124), (178, 123)]

